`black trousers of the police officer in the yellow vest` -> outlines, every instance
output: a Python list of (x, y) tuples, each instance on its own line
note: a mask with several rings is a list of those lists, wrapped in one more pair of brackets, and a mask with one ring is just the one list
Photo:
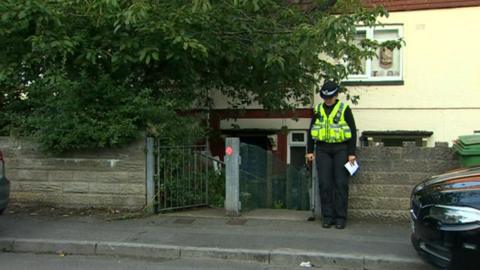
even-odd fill
[(346, 220), (348, 208), (347, 145), (343, 143), (317, 145), (317, 175), (324, 221)]

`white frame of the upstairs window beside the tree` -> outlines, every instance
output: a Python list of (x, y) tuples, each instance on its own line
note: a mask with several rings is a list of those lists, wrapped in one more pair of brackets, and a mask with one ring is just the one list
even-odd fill
[[(357, 27), (357, 32), (365, 31), (366, 38), (374, 40), (374, 32), (375, 30), (397, 30), (398, 37), (403, 38), (403, 25), (401, 24), (393, 24), (393, 25), (379, 25), (374, 27), (366, 27), (366, 26), (359, 26)], [(373, 77), (372, 74), (372, 60), (366, 59), (365, 62), (365, 74), (352, 74), (348, 75), (346, 82), (385, 82), (385, 81), (402, 81), (403, 80), (403, 47), (399, 49), (399, 75), (398, 76), (383, 76), (383, 77)]]

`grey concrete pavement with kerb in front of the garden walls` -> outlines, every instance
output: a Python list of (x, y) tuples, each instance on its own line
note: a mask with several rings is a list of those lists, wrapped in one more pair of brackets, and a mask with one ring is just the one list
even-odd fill
[(350, 221), (345, 230), (306, 221), (309, 212), (256, 210), (239, 218), (203, 209), (108, 220), (98, 216), (0, 217), (0, 250), (140, 258), (228, 259), (278, 266), (431, 270), (408, 224)]

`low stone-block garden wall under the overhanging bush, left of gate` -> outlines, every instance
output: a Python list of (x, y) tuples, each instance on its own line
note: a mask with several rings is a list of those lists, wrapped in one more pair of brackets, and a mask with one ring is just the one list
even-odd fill
[(28, 140), (0, 137), (11, 202), (140, 209), (145, 205), (144, 141), (122, 149), (41, 153)]

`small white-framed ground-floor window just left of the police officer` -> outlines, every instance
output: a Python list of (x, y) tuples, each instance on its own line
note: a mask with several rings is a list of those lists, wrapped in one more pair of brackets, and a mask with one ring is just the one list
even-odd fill
[(301, 168), (307, 153), (307, 132), (292, 131), (288, 134), (287, 164)]

